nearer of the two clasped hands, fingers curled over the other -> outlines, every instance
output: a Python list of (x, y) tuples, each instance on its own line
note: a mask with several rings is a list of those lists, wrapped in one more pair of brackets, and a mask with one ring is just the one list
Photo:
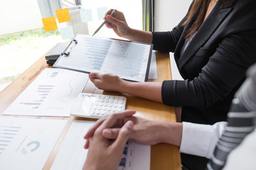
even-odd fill
[(104, 121), (99, 120), (96, 123), (98, 125), (92, 128), (94, 132), (93, 136), (90, 136), (89, 150), (83, 169), (117, 169), (122, 158), (124, 146), (132, 133), (134, 124), (132, 121), (127, 121), (120, 129), (114, 142), (103, 137), (102, 131), (105, 128), (112, 128), (114, 125), (119, 124), (124, 116), (133, 115), (134, 113), (135, 111), (127, 111), (126, 114), (113, 114), (102, 119)]

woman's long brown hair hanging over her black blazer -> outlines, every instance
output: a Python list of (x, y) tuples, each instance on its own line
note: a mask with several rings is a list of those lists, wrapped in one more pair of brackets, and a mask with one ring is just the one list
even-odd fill
[[(235, 0), (219, 0), (217, 3), (222, 4), (222, 5), (230, 5), (233, 4)], [(188, 28), (186, 32), (186, 40), (189, 40), (195, 33), (196, 31), (201, 27), (204, 18), (206, 16), (206, 12), (208, 9), (208, 5), (210, 4), (210, 0), (195, 0), (193, 3), (193, 6), (191, 7), (191, 11), (188, 13), (188, 17), (186, 21), (182, 24), (185, 26), (188, 21), (190, 21), (191, 17), (195, 13), (197, 16), (195, 21), (193, 22), (192, 26)]]

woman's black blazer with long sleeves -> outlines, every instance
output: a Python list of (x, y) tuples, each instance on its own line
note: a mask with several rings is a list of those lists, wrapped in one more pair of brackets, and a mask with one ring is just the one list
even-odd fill
[[(169, 32), (153, 32), (152, 43), (154, 50), (174, 52), (184, 79), (163, 82), (163, 102), (183, 106), (182, 121), (213, 124), (226, 120), (235, 91), (245, 80), (247, 68), (256, 62), (256, 1), (216, 4), (181, 56), (186, 30), (195, 18), (181, 26), (183, 18)], [(200, 161), (202, 166), (189, 161), (191, 169), (205, 169), (207, 159)]]

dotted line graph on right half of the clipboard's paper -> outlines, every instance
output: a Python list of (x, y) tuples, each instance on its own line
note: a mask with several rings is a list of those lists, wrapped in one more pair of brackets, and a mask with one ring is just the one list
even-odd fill
[(145, 45), (113, 41), (101, 71), (125, 77), (140, 77), (148, 62), (148, 54), (145, 52)]

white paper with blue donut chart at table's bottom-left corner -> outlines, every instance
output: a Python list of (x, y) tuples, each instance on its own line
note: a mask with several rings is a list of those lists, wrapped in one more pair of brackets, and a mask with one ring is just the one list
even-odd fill
[(0, 118), (0, 169), (43, 169), (67, 120)]

